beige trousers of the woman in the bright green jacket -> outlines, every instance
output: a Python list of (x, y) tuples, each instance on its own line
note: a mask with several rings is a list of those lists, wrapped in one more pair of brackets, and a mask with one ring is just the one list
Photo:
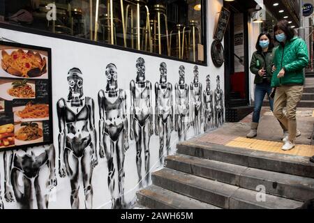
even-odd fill
[[(303, 86), (279, 86), (274, 98), (274, 116), (289, 131), (289, 140), (294, 141), (297, 134), (297, 104), (302, 98)], [(287, 108), (287, 114), (283, 108)]]

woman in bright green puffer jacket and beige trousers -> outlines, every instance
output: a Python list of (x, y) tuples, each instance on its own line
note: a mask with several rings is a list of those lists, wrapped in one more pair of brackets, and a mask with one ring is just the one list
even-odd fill
[[(303, 69), (308, 65), (308, 47), (295, 36), (287, 20), (274, 27), (276, 40), (280, 43), (274, 56), (274, 74), (271, 87), (274, 88), (274, 115), (287, 128), (289, 134), (283, 139), (284, 151), (294, 148), (297, 137), (297, 103), (301, 100), (304, 85)], [(283, 113), (287, 108), (287, 114)]]

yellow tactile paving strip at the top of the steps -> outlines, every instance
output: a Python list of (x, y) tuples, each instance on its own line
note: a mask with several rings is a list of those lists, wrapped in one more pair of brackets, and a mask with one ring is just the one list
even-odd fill
[(283, 151), (281, 147), (283, 143), (278, 141), (267, 141), (260, 139), (247, 139), (244, 137), (238, 137), (229, 141), (225, 146), (248, 148), (256, 151), (264, 151), (269, 153), (282, 153), (287, 155), (301, 155), (311, 157), (314, 155), (314, 146), (310, 145), (297, 145), (291, 151)]

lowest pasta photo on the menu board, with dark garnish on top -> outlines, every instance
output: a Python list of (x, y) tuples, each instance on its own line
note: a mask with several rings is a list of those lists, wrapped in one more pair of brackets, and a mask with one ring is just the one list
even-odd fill
[(22, 122), (15, 125), (15, 145), (43, 142), (43, 123)]

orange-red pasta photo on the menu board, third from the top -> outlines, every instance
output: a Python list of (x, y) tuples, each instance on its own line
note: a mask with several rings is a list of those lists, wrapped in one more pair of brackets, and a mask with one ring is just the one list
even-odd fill
[(13, 107), (14, 121), (46, 121), (49, 120), (49, 105), (28, 102), (25, 106)]

